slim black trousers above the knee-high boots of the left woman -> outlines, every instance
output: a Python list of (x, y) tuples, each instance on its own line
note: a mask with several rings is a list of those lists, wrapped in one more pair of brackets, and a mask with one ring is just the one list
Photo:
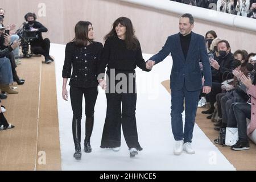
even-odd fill
[(82, 96), (85, 98), (85, 115), (91, 118), (94, 114), (94, 106), (98, 96), (98, 88), (70, 87), (71, 106), (76, 119), (82, 119)]

